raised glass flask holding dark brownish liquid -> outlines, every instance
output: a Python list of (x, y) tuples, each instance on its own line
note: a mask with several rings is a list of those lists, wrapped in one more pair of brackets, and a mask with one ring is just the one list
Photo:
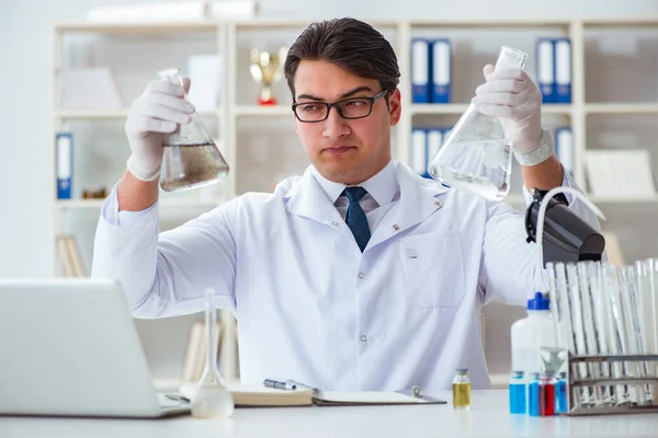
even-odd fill
[[(158, 72), (158, 79), (183, 87), (179, 69)], [(186, 93), (183, 96), (188, 99)], [(160, 187), (166, 192), (178, 192), (214, 184), (228, 174), (228, 164), (208, 135), (196, 112), (190, 122), (164, 138)]]

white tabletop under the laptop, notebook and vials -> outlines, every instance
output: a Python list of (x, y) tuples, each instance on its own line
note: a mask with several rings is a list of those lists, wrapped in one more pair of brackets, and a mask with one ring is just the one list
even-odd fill
[(474, 391), (470, 411), (428, 406), (240, 408), (229, 420), (0, 417), (0, 437), (658, 437), (658, 414), (510, 415), (507, 391)]

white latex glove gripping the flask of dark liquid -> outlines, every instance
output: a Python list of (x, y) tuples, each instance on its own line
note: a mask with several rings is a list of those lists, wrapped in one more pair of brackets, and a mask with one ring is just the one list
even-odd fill
[[(190, 80), (183, 79), (185, 92)], [(138, 180), (154, 181), (160, 175), (162, 141), (190, 122), (194, 106), (184, 100), (183, 89), (156, 80), (133, 102), (125, 131), (131, 145), (128, 171)]]

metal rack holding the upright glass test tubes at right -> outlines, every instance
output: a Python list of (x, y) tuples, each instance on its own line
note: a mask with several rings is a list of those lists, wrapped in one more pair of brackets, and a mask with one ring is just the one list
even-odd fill
[[(579, 377), (578, 367), (580, 364), (609, 364), (610, 368), (615, 362), (644, 362), (650, 364), (650, 370), (647, 376), (631, 377), (624, 376), (614, 378), (612, 376), (604, 377)], [(658, 355), (592, 355), (580, 356), (568, 354), (567, 381), (568, 381), (568, 412), (563, 415), (610, 415), (610, 414), (644, 414), (658, 413), (658, 372), (656, 368), (658, 364)], [(645, 404), (625, 403), (620, 405), (604, 404), (581, 404), (578, 402), (580, 388), (587, 387), (593, 389), (595, 387), (653, 387), (653, 400)]]

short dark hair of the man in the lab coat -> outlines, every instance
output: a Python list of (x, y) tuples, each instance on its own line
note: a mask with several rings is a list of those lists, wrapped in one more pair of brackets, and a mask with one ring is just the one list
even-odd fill
[(352, 74), (376, 79), (393, 91), (400, 69), (390, 43), (367, 23), (344, 18), (311, 23), (291, 46), (283, 71), (295, 100), (295, 72), (302, 60), (322, 60)]

